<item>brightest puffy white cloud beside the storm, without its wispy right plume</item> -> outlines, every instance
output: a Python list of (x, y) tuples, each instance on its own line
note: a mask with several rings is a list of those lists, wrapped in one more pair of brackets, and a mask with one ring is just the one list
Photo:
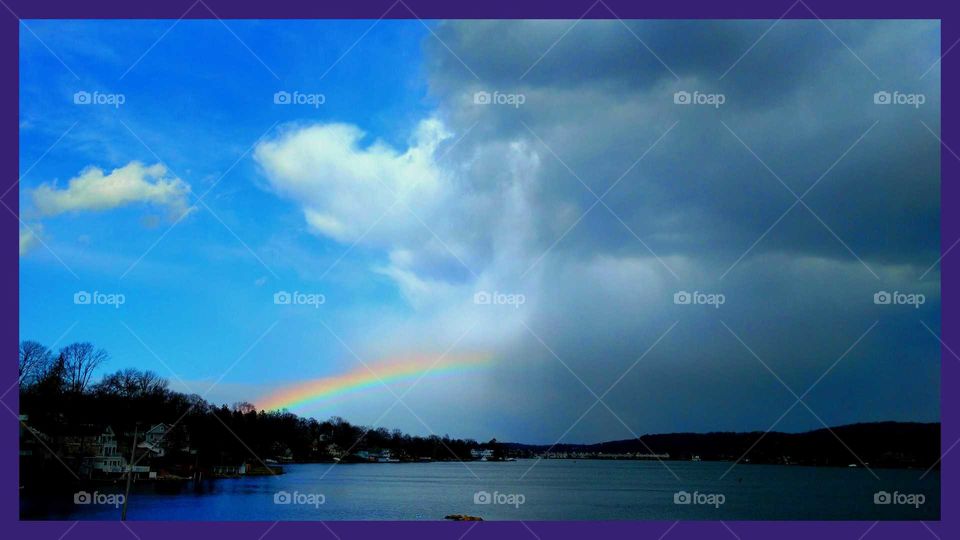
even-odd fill
[[(339, 242), (392, 243), (422, 231), (404, 207), (429, 212), (443, 196), (433, 162), (449, 134), (425, 120), (400, 152), (348, 124), (292, 128), (257, 146), (254, 156), (279, 194), (298, 201), (310, 228)], [(396, 204), (395, 204), (396, 203)], [(378, 220), (388, 226), (371, 229)]]

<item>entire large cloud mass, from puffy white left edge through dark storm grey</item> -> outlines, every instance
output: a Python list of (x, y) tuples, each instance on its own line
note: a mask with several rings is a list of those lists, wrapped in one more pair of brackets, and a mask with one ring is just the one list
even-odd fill
[[(763, 430), (791, 395), (724, 325), (802, 393), (880, 321), (806, 402), (829, 424), (939, 418), (939, 346), (917, 322), (939, 324), (938, 271), (918, 280), (940, 246), (939, 144), (924, 127), (939, 129), (939, 72), (919, 78), (938, 25), (831, 22), (879, 83), (817, 21), (782, 21), (726, 76), (767, 21), (625, 24), (564, 36), (551, 21), (444, 22), (443, 45), (424, 42), (438, 107), (406, 149), (364, 146), (347, 124), (289, 126), (258, 146), (271, 189), (315, 233), (379, 252), (369, 271), (409, 300), (410, 313), (357, 330), (378, 336), (372, 354), (464, 335), (495, 351), (498, 367), (474, 380), (486, 407), (447, 426), (553, 442), (616, 382), (605, 401), (619, 418), (597, 407), (566, 440), (632, 436), (621, 420), (637, 433)], [(883, 88), (928, 106), (877, 106)], [(726, 103), (674, 104), (684, 89)], [(477, 91), (526, 100), (476, 105)], [(808, 189), (795, 205), (791, 191)], [(883, 289), (927, 303), (883, 310)], [(680, 290), (727, 301), (678, 306)], [(477, 291), (526, 301), (476, 305)], [(456, 398), (435, 393), (420, 399)], [(802, 413), (780, 426), (816, 427)]]

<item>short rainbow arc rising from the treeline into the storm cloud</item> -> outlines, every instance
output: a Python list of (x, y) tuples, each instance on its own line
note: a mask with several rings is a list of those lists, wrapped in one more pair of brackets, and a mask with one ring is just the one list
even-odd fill
[[(418, 356), (360, 365), (342, 375), (321, 377), (280, 388), (257, 401), (261, 410), (300, 408), (306, 405), (326, 405), (338, 398), (363, 390), (382, 387), (382, 383), (418, 380), (421, 377), (441, 377), (470, 371), (489, 364), (488, 354)], [(382, 382), (381, 382), (382, 381)]]

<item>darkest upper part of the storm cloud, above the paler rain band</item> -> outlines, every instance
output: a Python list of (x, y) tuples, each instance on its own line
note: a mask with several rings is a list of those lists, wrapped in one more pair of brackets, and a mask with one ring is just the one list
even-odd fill
[[(805, 200), (819, 219), (797, 206), (791, 213), (802, 219), (778, 225), (777, 241), (760, 243), (758, 253), (849, 258), (841, 243), (823, 241), (832, 234), (822, 220), (865, 259), (924, 268), (936, 259), (939, 145), (927, 127), (939, 130), (939, 77), (920, 79), (936, 59), (935, 24), (832, 23), (867, 66), (817, 21), (781, 22), (739, 62), (768, 22), (629, 25), (669, 69), (616, 21), (582, 21), (552, 49), (569, 23), (450, 23), (438, 35), (480, 80), (428, 41), (433, 88), (458, 128), (480, 121), (474, 139), (531, 140), (550, 191), (581, 211), (595, 199), (567, 166), (602, 193), (679, 122), (607, 199), (657, 253), (695, 249), (732, 256), (732, 264), (793, 204), (790, 190), (800, 195), (816, 183)], [(719, 92), (726, 103), (675, 106), (673, 93), (683, 89)], [(475, 107), (477, 90), (523, 92), (526, 102)], [(879, 90), (927, 101), (881, 107), (873, 103)], [(608, 242), (597, 244), (603, 236)], [(578, 238), (604, 249), (617, 243), (584, 227), (565, 245), (581, 248)]]

